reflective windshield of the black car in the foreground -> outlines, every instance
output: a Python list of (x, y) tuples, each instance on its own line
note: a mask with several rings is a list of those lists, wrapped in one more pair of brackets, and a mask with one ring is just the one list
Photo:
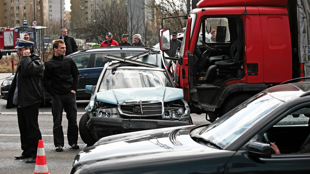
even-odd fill
[(225, 148), (282, 103), (268, 93), (261, 92), (202, 129), (200, 135)]

